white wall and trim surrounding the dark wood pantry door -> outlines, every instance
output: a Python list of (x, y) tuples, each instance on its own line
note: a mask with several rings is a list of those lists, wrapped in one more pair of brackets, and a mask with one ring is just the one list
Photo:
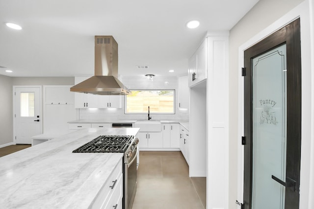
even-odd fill
[[(302, 4), (300, 4), (302, 3)], [(299, 5), (300, 4), (300, 5)], [(287, 14), (288, 13), (288, 14)], [(302, 148), (301, 148), (301, 187), (300, 187), (300, 209), (310, 209), (311, 206), (309, 191), (312, 187), (310, 168), (313, 166), (310, 161), (311, 147), (311, 116), (313, 121), (313, 104), (311, 110), (311, 60), (310, 60), (310, 33), (309, 33), (309, 13), (308, 1), (305, 0), (260, 0), (256, 6), (230, 31), (230, 209), (235, 209), (236, 199), (241, 198), (241, 186), (237, 185), (238, 175), (241, 175), (241, 160), (237, 162), (239, 152), (242, 157), (242, 148), (239, 146), (242, 128), (237, 130), (237, 126), (232, 124), (242, 123), (243, 87), (241, 83), (240, 67), (243, 65), (242, 51), (271, 32), (276, 31), (284, 24), (292, 21), (297, 16), (301, 16), (301, 50), (302, 50)], [(266, 15), (265, 15), (266, 14)], [(256, 21), (255, 21), (256, 20)], [(303, 41), (302, 41), (303, 40)], [(313, 76), (313, 75), (312, 75)], [(312, 78), (312, 89), (313, 89)], [(239, 86), (239, 89), (238, 89)], [(312, 93), (313, 97), (313, 93)], [(313, 99), (312, 99), (313, 101)], [(238, 111), (239, 110), (239, 111)], [(313, 139), (312, 139), (313, 140)], [(312, 142), (313, 146), (313, 142)], [(238, 148), (238, 149), (237, 149)], [(313, 148), (312, 148), (313, 149)], [(313, 150), (312, 150), (313, 152)], [(239, 169), (238, 169), (239, 168)], [(237, 173), (237, 170), (239, 171)], [(237, 174), (237, 175), (235, 175)], [(241, 179), (242, 177), (239, 177)], [(313, 168), (312, 168), (313, 179)], [(312, 180), (313, 182), (313, 180)], [(237, 196), (237, 189), (240, 188)]]

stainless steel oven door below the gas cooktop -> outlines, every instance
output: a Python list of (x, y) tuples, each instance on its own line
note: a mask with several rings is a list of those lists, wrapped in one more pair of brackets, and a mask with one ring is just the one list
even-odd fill
[(130, 161), (128, 163), (124, 163), (124, 170), (125, 170), (124, 204), (125, 204), (125, 209), (131, 209), (132, 208), (135, 193), (136, 193), (137, 154), (138, 154), (138, 146), (136, 146), (136, 148), (133, 150), (132, 157), (130, 158)]

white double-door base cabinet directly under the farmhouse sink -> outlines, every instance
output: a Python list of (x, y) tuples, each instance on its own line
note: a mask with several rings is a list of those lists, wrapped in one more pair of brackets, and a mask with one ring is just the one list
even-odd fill
[(162, 132), (139, 132), (139, 148), (162, 148)]

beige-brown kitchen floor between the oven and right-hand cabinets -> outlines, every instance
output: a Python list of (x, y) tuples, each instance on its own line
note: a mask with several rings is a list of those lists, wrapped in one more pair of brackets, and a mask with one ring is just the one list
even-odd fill
[(206, 178), (189, 178), (180, 151), (141, 151), (132, 209), (205, 209)]

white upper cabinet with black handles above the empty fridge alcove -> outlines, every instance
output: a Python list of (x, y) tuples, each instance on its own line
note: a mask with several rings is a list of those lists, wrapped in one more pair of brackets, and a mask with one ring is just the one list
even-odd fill
[(207, 79), (207, 38), (189, 59), (188, 76), (189, 87)]

